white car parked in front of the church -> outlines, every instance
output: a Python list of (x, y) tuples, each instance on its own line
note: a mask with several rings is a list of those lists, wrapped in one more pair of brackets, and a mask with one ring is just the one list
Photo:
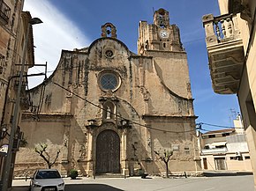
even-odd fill
[(56, 169), (39, 169), (30, 181), (31, 191), (64, 191), (64, 180)]

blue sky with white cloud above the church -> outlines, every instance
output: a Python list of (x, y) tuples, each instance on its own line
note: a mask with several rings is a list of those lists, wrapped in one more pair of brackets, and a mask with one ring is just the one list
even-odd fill
[[(160, 8), (169, 11), (170, 24), (180, 29), (188, 56), (194, 111), (199, 116), (197, 122), (233, 126), (230, 109), (239, 112), (237, 96), (213, 92), (201, 21), (205, 14), (220, 14), (217, 0), (25, 0), (24, 11), (43, 21), (34, 26), (35, 62), (48, 62), (49, 76), (62, 49), (88, 47), (101, 37), (101, 26), (107, 22), (117, 27), (117, 39), (137, 53), (139, 21), (153, 23), (153, 13)], [(43, 70), (37, 67), (30, 73)], [(30, 77), (29, 86), (41, 81), (39, 77)]]

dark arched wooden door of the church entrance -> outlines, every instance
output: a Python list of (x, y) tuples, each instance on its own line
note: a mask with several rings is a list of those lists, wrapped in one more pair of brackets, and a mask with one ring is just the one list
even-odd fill
[(113, 130), (104, 130), (97, 137), (96, 173), (120, 173), (120, 138)]

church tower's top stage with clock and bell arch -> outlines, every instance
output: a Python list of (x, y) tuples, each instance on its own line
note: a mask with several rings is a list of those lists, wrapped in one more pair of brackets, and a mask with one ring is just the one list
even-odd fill
[(145, 51), (184, 51), (178, 27), (169, 25), (169, 11), (154, 11), (152, 25), (139, 22), (138, 54), (144, 55)]

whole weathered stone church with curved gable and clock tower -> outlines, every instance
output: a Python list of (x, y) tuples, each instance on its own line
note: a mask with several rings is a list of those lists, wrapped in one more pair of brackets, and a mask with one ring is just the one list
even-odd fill
[(48, 144), (50, 158), (61, 151), (54, 167), (63, 174), (165, 173), (155, 151), (173, 151), (171, 173), (200, 170), (186, 53), (168, 11), (155, 11), (154, 24), (140, 21), (138, 54), (106, 23), (88, 48), (63, 50), (27, 99), (16, 175), (46, 167), (34, 152), (39, 143)]

